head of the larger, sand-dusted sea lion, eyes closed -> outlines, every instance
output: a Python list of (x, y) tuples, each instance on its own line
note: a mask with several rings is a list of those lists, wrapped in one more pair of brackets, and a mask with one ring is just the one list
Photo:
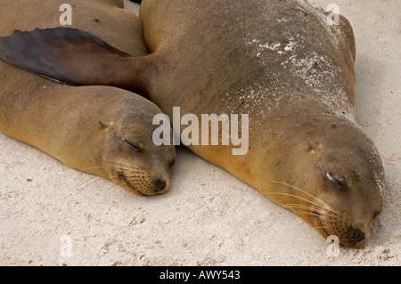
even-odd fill
[(337, 236), (345, 247), (364, 247), (384, 199), (384, 170), (376, 148), (344, 118), (315, 118), (298, 126), (305, 129), (298, 137), (307, 141), (298, 140), (286, 162), (288, 182), (274, 182), (283, 192), (279, 203), (323, 238)]

